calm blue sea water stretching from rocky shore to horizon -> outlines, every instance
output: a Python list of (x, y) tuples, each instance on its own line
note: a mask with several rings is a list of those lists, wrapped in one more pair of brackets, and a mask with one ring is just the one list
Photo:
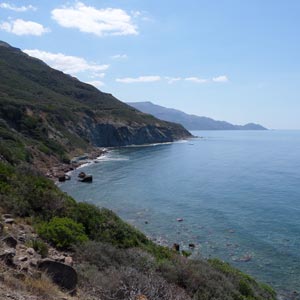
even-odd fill
[(77, 182), (77, 170), (61, 188), (161, 243), (195, 243), (195, 256), (300, 291), (300, 132), (194, 134), (203, 138), (113, 150), (81, 169), (92, 184)]

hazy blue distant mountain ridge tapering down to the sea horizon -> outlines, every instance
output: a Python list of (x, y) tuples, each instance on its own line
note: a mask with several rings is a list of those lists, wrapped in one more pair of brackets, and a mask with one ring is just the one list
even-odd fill
[(233, 125), (225, 121), (189, 115), (180, 110), (166, 108), (152, 102), (128, 102), (127, 104), (158, 119), (179, 123), (188, 130), (267, 130), (259, 124)]

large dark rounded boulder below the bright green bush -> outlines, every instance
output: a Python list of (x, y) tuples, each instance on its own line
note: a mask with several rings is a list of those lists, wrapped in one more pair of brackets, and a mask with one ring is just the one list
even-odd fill
[(38, 269), (47, 273), (54, 283), (68, 291), (75, 291), (78, 282), (76, 271), (66, 264), (45, 259), (38, 263)]

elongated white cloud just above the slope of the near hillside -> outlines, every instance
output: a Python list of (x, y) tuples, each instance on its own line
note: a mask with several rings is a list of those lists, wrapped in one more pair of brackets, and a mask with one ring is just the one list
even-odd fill
[(64, 55), (62, 53), (51, 53), (37, 49), (25, 49), (23, 51), (30, 56), (34, 56), (43, 60), (52, 68), (61, 70), (71, 75), (91, 71), (96, 73), (101, 78), (104, 77), (104, 75), (102, 75), (102, 73), (98, 74), (98, 72), (105, 71), (109, 68), (109, 65), (99, 65), (96, 63), (87, 62), (84, 58)]

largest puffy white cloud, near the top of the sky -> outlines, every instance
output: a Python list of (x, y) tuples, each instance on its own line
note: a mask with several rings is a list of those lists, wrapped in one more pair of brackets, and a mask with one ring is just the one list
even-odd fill
[(81, 32), (104, 35), (137, 35), (137, 26), (132, 17), (117, 8), (97, 9), (76, 2), (73, 6), (64, 6), (52, 10), (52, 18), (66, 28), (77, 28)]

